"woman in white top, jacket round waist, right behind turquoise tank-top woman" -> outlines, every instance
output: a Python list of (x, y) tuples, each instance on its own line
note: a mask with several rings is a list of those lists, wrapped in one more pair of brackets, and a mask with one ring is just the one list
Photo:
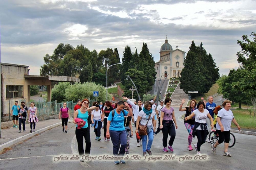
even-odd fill
[(102, 127), (102, 121), (103, 121), (103, 115), (101, 110), (99, 109), (99, 105), (95, 105), (96, 109), (94, 111), (91, 111), (91, 124), (95, 128), (95, 140), (100, 141), (101, 140), (101, 127)]

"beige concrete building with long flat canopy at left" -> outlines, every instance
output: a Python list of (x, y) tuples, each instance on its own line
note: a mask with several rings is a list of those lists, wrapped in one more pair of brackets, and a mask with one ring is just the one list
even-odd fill
[(30, 101), (30, 85), (47, 86), (48, 101), (51, 101), (52, 81), (79, 82), (76, 77), (29, 75), (28, 67), (1, 63), (1, 112), (4, 116), (9, 115), (15, 101)]

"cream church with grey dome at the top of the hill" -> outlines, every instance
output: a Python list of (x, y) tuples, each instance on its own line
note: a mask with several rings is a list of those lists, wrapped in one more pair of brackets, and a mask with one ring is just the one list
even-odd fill
[[(173, 50), (173, 47), (168, 43), (166, 37), (165, 43), (160, 49), (160, 60), (155, 63), (156, 77), (172, 78), (181, 77), (181, 70), (184, 68), (185, 51), (178, 49)], [(163, 78), (163, 77), (162, 77)]]

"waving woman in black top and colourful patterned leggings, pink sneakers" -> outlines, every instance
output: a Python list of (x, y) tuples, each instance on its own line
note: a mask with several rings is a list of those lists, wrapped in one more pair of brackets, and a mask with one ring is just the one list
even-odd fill
[[(191, 113), (193, 111), (195, 111), (195, 109), (196, 109), (196, 100), (191, 100), (190, 104), (189, 104), (189, 107), (182, 108), (182, 105), (184, 103), (185, 103), (185, 98), (183, 98), (181, 100), (181, 105), (180, 105), (179, 111), (186, 111), (184, 117), (187, 117), (187, 116), (191, 115)], [(193, 133), (193, 129), (194, 129), (194, 126), (195, 126), (195, 116), (191, 117), (191, 119), (189, 119), (189, 120), (184, 120), (184, 125), (185, 125), (185, 127), (188, 131), (188, 150), (192, 151), (193, 148), (191, 147), (191, 143), (192, 143), (192, 139), (193, 139), (192, 133)]]

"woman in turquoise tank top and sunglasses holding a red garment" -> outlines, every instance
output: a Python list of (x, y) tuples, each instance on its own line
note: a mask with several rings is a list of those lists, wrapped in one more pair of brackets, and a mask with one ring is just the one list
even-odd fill
[(88, 115), (89, 115), (90, 111), (93, 111), (94, 109), (96, 109), (96, 107), (92, 106), (92, 107), (88, 108), (89, 103), (90, 103), (89, 100), (87, 98), (85, 98), (82, 101), (81, 108), (75, 111), (74, 119), (73, 119), (73, 123), (75, 123), (76, 118), (83, 119), (83, 121), (86, 122), (85, 125), (83, 127), (81, 127), (80, 129), (78, 129), (78, 125), (76, 125), (76, 140), (77, 140), (77, 144), (78, 144), (78, 153), (80, 155), (80, 162), (84, 162), (84, 160), (82, 159), (82, 156), (84, 155), (83, 138), (85, 139), (85, 143), (86, 143), (85, 154), (91, 153), (91, 137), (90, 137), (90, 130), (88, 127), (87, 119), (88, 119)]

